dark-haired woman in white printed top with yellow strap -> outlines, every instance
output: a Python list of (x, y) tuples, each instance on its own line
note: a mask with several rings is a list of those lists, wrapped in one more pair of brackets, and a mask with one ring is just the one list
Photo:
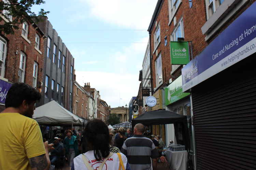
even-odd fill
[(89, 121), (84, 137), (89, 151), (74, 158), (71, 170), (131, 170), (124, 154), (110, 152), (109, 129), (102, 120)]

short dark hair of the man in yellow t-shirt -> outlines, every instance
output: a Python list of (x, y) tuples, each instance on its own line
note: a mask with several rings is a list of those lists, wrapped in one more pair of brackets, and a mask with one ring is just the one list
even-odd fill
[(38, 90), (25, 83), (14, 83), (9, 89), (6, 99), (5, 107), (19, 107), (24, 100), (27, 104), (31, 104), (33, 101), (39, 101), (41, 94)]

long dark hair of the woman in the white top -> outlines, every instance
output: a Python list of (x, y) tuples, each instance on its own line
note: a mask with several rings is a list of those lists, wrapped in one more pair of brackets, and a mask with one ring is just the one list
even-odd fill
[(96, 160), (101, 160), (109, 155), (109, 128), (102, 120), (89, 121), (84, 128), (84, 137), (90, 150), (94, 151)]

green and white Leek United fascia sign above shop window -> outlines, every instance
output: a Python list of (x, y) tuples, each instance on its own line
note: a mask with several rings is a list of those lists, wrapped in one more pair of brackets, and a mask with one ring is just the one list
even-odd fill
[(182, 92), (182, 76), (180, 76), (165, 88), (165, 105), (167, 106), (188, 95), (190, 93)]

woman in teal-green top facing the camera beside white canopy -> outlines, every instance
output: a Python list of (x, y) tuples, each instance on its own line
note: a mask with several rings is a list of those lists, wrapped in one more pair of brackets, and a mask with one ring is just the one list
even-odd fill
[(68, 158), (69, 166), (71, 168), (74, 157), (79, 155), (78, 142), (76, 136), (72, 135), (71, 130), (67, 130), (66, 134), (67, 137), (63, 140), (63, 145), (66, 149), (66, 156)]

